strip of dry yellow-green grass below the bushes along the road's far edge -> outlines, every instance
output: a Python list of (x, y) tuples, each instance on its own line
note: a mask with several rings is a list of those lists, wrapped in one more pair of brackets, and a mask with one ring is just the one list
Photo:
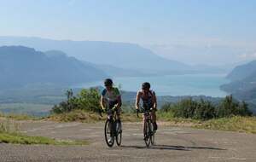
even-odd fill
[[(57, 121), (57, 122), (83, 122), (83, 123), (96, 123), (99, 121), (105, 121), (106, 113), (102, 113), (103, 117), (100, 117), (98, 113), (86, 112), (83, 110), (74, 110), (70, 113), (61, 113), (53, 114), (46, 120)], [(0, 114), (1, 117), (1, 114)], [(15, 119), (15, 120), (27, 120), (35, 119), (27, 115), (2, 115), (2, 117), (7, 117), (6, 119)], [(122, 113), (121, 119), (123, 122), (141, 122), (142, 116), (140, 119), (137, 119), (136, 113)], [(157, 112), (157, 121), (166, 122), (168, 125), (172, 126), (188, 126), (197, 129), (209, 129), (209, 130), (230, 130), (230, 131), (239, 131), (246, 133), (256, 134), (256, 117), (240, 117), (235, 116), (231, 118), (222, 118), (222, 119), (210, 119), (210, 120), (199, 120), (199, 119), (183, 119), (183, 118), (174, 118), (172, 113), (162, 113)], [(3, 125), (2, 125), (3, 127)], [(15, 125), (13, 125), (15, 127)], [(17, 126), (16, 126), (17, 127)], [(1, 124), (0, 124), (1, 130)], [(11, 129), (4, 129), (11, 130)]]

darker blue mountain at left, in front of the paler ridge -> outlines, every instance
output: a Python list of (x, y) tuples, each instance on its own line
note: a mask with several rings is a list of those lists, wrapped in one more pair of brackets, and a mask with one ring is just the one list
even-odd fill
[(105, 72), (67, 57), (60, 51), (46, 53), (23, 46), (0, 47), (0, 88), (27, 84), (70, 85), (107, 77)]

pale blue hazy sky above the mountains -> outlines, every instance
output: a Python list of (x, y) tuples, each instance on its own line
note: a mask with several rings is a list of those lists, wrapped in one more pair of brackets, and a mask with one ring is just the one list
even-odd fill
[(0, 0), (0, 36), (138, 43), (168, 59), (256, 59), (255, 0)]

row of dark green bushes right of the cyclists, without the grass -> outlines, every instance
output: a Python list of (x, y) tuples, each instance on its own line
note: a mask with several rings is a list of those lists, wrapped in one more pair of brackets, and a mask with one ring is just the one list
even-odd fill
[(224, 98), (219, 105), (214, 106), (211, 101), (194, 101), (192, 98), (178, 101), (177, 103), (166, 103), (160, 109), (161, 112), (172, 112), (173, 117), (185, 119), (213, 119), (231, 117), (234, 115), (251, 116), (247, 103), (235, 101), (232, 95)]

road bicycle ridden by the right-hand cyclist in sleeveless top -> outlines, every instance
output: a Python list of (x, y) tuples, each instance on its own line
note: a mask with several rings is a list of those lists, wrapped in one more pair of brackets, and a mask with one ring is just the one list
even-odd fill
[(143, 124), (143, 135), (144, 135), (144, 142), (149, 148), (150, 144), (154, 145), (154, 133), (155, 131), (153, 130), (153, 122), (151, 119), (150, 113), (152, 112), (151, 108), (142, 108), (137, 111), (137, 118), (138, 118), (138, 113), (143, 113), (144, 116), (144, 124)]

